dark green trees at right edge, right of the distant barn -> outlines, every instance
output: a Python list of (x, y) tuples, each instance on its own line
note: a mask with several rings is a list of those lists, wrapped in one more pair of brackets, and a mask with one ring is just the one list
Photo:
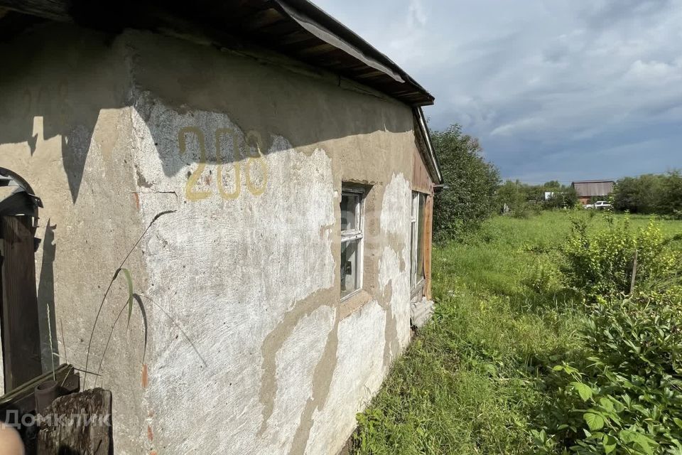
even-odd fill
[(682, 174), (644, 174), (616, 182), (614, 208), (631, 213), (673, 215), (682, 210)]

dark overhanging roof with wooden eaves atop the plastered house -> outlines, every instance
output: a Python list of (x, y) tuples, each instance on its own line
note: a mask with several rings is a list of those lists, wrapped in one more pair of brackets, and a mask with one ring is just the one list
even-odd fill
[(186, 34), (191, 25), (216, 45), (229, 47), (237, 36), (412, 107), (433, 105), (433, 96), (396, 63), (308, 0), (0, 0), (0, 33), (21, 21), (1, 14), (3, 8), (104, 30)]

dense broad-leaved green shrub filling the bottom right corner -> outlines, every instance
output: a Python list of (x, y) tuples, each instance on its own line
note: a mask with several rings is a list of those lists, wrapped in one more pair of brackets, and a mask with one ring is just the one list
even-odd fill
[(556, 366), (542, 453), (682, 454), (682, 292), (600, 301), (588, 352)]

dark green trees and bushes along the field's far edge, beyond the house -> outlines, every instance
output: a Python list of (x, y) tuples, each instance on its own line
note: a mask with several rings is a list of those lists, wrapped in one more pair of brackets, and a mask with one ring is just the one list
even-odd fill
[[(435, 198), (434, 240), (461, 238), (494, 213), (525, 218), (540, 210), (572, 208), (578, 194), (558, 181), (529, 185), (502, 182), (499, 170), (485, 159), (480, 142), (458, 124), (432, 133), (445, 181)], [(546, 193), (550, 193), (546, 198)], [(682, 218), (682, 173), (621, 178), (612, 194), (615, 210)]]

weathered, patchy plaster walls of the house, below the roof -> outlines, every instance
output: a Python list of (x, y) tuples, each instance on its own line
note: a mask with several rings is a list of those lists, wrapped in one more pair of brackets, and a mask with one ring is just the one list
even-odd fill
[[(411, 110), (294, 63), (61, 28), (28, 76), (0, 82), (2, 166), (43, 198), (38, 236), (57, 226), (60, 360), (85, 365), (102, 288), (173, 210), (129, 259), (144, 318), (121, 318), (97, 380), (117, 453), (337, 453), (409, 341)], [(15, 63), (54, 32), (10, 43)], [(17, 119), (58, 75), (66, 88)], [(67, 125), (34, 138), (39, 111)], [(339, 301), (345, 181), (368, 188), (364, 291)], [(124, 300), (116, 287), (89, 369)]]

